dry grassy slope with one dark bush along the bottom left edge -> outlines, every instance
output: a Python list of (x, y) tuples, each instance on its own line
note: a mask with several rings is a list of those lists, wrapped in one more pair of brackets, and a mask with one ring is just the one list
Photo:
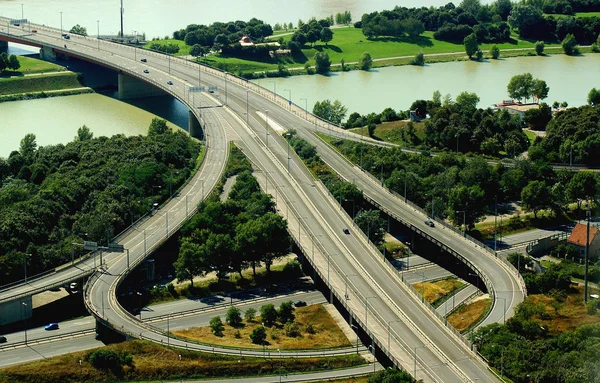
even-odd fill
[[(81, 364), (80, 364), (81, 361)], [(263, 359), (206, 354), (129, 341), (0, 369), (0, 382), (163, 381), (308, 373), (364, 364), (359, 355)]]

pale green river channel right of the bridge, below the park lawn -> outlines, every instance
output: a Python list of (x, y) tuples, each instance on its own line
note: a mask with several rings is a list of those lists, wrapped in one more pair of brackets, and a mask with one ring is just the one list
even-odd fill
[(338, 99), (349, 113), (366, 114), (379, 113), (386, 107), (408, 110), (414, 100), (430, 100), (436, 90), (442, 95), (450, 94), (453, 99), (462, 91), (476, 93), (481, 99), (479, 107), (487, 107), (510, 98), (506, 86), (512, 76), (530, 72), (550, 87), (546, 102), (567, 101), (569, 105), (579, 106), (587, 103), (590, 89), (600, 88), (598, 68), (600, 54), (590, 53), (585, 57), (549, 55), (485, 62), (457, 61), (424, 67), (409, 65), (255, 82), (270, 90), (276, 88), (277, 93), (286, 98), (290, 96), (286, 89), (291, 90), (292, 101), (303, 108), (307, 104), (309, 111), (317, 101)]

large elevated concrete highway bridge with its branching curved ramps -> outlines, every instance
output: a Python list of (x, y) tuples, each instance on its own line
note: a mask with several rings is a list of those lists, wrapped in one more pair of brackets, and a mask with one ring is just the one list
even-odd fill
[[(7, 19), (0, 19), (2, 22), (6, 23)], [(35, 34), (14, 27), (8, 33), (7, 28), (3, 28), (0, 39), (96, 62), (149, 83), (187, 105), (197, 121), (203, 121), (207, 132), (204, 163), (181, 197), (171, 200), (158, 214), (120, 236), (118, 241), (130, 250), (131, 259), (124, 253), (107, 256), (105, 266), (88, 281), (86, 305), (99, 322), (132, 338), (193, 348), (193, 344), (172, 340), (168, 334), (125, 312), (118, 304), (115, 292), (128, 271), (160, 246), (193, 212), (184, 208), (184, 199), (190, 199), (195, 206), (215, 185), (225, 164), (228, 138), (231, 137), (255, 168), (263, 172), (264, 177), (259, 176), (261, 186), (276, 196), (278, 209), (288, 216), (290, 233), (330, 289), (330, 300), (337, 302), (351, 324), (356, 324), (369, 336), (376, 356), (385, 355), (396, 366), (424, 381), (498, 380), (485, 361), (471, 350), (469, 342), (421, 303), (403, 282), (401, 274), (385, 263), (362, 233), (353, 230), (351, 235), (343, 234), (342, 228), (352, 227), (350, 217), (293, 153), (291, 166), (286, 166), (289, 163), (287, 142), (276, 133), (278, 127), (296, 129), (317, 147), (321, 157), (333, 169), (361, 188), (367, 198), (472, 267), (493, 297), (487, 322), (501, 321), (512, 314), (525, 295), (522, 279), (516, 270), (482, 245), (467, 240), (441, 223), (436, 228), (427, 227), (423, 223), (426, 217), (423, 212), (382, 188), (313, 134), (325, 130), (343, 135), (343, 131), (327, 126), (296, 105), (289, 105), (282, 97), (230, 74), (83, 36), (72, 35), (68, 44), (64, 44), (60, 31), (36, 28)], [(140, 55), (147, 62), (141, 63)], [(149, 73), (144, 73), (144, 69)], [(167, 81), (172, 81), (173, 85), (168, 85)], [(202, 84), (226, 89), (224, 98), (216, 100), (211, 94), (189, 92), (190, 87)], [(282, 352), (282, 356), (295, 357), (286, 352)]]

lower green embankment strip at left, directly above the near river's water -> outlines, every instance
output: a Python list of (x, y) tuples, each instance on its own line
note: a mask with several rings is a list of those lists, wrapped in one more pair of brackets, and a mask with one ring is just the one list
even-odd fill
[(79, 81), (77, 81), (77, 74), (73, 72), (5, 78), (0, 79), (0, 84), (0, 95), (82, 87)]

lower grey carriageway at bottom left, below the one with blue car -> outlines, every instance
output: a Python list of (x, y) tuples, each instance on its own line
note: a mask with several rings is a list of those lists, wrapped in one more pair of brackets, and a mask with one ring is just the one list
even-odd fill
[(95, 339), (94, 334), (76, 338), (53, 340), (47, 343), (29, 345), (15, 349), (0, 350), (0, 367), (32, 362), (57, 355), (102, 347), (104, 343)]

